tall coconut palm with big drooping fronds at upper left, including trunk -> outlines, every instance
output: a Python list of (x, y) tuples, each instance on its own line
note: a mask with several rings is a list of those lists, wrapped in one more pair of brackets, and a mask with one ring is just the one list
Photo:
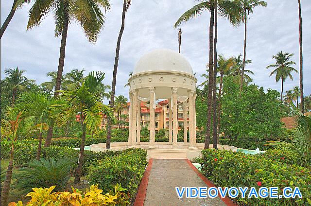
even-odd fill
[[(97, 41), (100, 30), (104, 25), (105, 19), (100, 7), (103, 7), (105, 11), (109, 10), (109, 1), (34, 0), (34, 4), (29, 11), (27, 30), (30, 30), (35, 26), (41, 25), (44, 17), (46, 17), (50, 13), (50, 11), (52, 11), (55, 19), (55, 36), (61, 36), (57, 76), (54, 87), (54, 97), (59, 94), (58, 91), (61, 89), (69, 23), (77, 21), (81, 25), (81, 28), (84, 30), (84, 33), (88, 40), (91, 43), (95, 43)], [(45, 146), (49, 146), (51, 144), (52, 132), (53, 124), (51, 124), (49, 127)]]

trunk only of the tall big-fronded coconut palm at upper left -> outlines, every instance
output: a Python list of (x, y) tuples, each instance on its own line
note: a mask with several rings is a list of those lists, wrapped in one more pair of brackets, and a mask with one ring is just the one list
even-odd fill
[[(66, 49), (68, 24), (69, 24), (69, 8), (68, 8), (68, 5), (65, 3), (64, 24), (63, 24), (63, 31), (62, 31), (62, 39), (60, 43), (59, 62), (58, 62), (57, 77), (56, 77), (56, 84), (55, 84), (55, 90), (54, 90), (54, 98), (59, 95), (58, 90), (60, 90), (60, 86), (62, 82), (63, 69), (64, 69), (64, 63), (65, 63), (65, 49)], [(45, 147), (49, 147), (51, 145), (51, 139), (53, 135), (53, 126), (54, 126), (53, 123), (49, 126), (47, 138), (44, 144)]]

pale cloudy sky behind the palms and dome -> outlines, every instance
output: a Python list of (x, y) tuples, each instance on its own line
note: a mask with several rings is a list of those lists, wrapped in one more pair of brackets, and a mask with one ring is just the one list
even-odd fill
[[(7, 17), (12, 0), (1, 0), (1, 25)], [(134, 69), (139, 57), (157, 48), (178, 51), (178, 31), (173, 29), (175, 21), (197, 0), (133, 0), (125, 19), (125, 30), (121, 41), (120, 61), (117, 74), (117, 94), (128, 95), (128, 74)], [(66, 45), (64, 72), (71, 69), (101, 70), (105, 72), (105, 84), (111, 85), (117, 37), (121, 26), (122, 1), (110, 0), (111, 11), (105, 14), (106, 23), (98, 42), (87, 41), (80, 26), (72, 22)], [(297, 0), (267, 0), (268, 7), (256, 8), (248, 23), (246, 58), (253, 60), (247, 66), (255, 75), (254, 83), (265, 89), (280, 91), (280, 83), (270, 77), (267, 65), (273, 64), (272, 55), (278, 51), (294, 53), (293, 60), (299, 70), (299, 36)], [(40, 27), (26, 32), (30, 5), (18, 9), (1, 39), (1, 79), (7, 68), (24, 69), (29, 79), (37, 84), (48, 81), (48, 71), (57, 70), (60, 38), (54, 37), (52, 14)], [(311, 0), (302, 0), (304, 91), (311, 93)], [(209, 14), (181, 25), (183, 32), (181, 53), (197, 72), (206, 73), (208, 62)], [(243, 26), (233, 27), (226, 19), (218, 20), (218, 54), (226, 57), (243, 52)], [(286, 80), (284, 89), (299, 86), (299, 76), (294, 81)]]

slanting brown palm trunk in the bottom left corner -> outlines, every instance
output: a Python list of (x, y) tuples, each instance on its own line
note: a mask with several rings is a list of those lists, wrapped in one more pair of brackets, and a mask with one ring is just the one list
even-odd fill
[(14, 157), (14, 141), (11, 143), (11, 154), (8, 169), (6, 170), (5, 180), (3, 182), (2, 191), (1, 191), (1, 200), (0, 205), (4, 206), (7, 204), (11, 180), (12, 180), (12, 172), (13, 172), (13, 157)]

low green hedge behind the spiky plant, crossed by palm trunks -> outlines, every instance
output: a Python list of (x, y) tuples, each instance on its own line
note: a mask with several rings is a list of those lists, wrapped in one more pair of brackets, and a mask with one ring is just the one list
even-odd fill
[[(18, 144), (14, 153), (14, 166), (25, 167), (27, 163), (36, 158), (37, 147), (27, 144)], [(92, 152), (85, 150), (82, 165), (82, 175), (86, 174), (87, 167), (97, 160), (104, 159), (120, 154), (120, 151)], [(71, 165), (70, 172), (74, 173), (78, 165), (79, 150), (74, 150), (69, 147), (59, 147), (52, 145), (50, 147), (42, 147), (41, 157), (45, 159), (54, 158), (55, 160), (67, 157), (73, 158), (74, 162)]]

